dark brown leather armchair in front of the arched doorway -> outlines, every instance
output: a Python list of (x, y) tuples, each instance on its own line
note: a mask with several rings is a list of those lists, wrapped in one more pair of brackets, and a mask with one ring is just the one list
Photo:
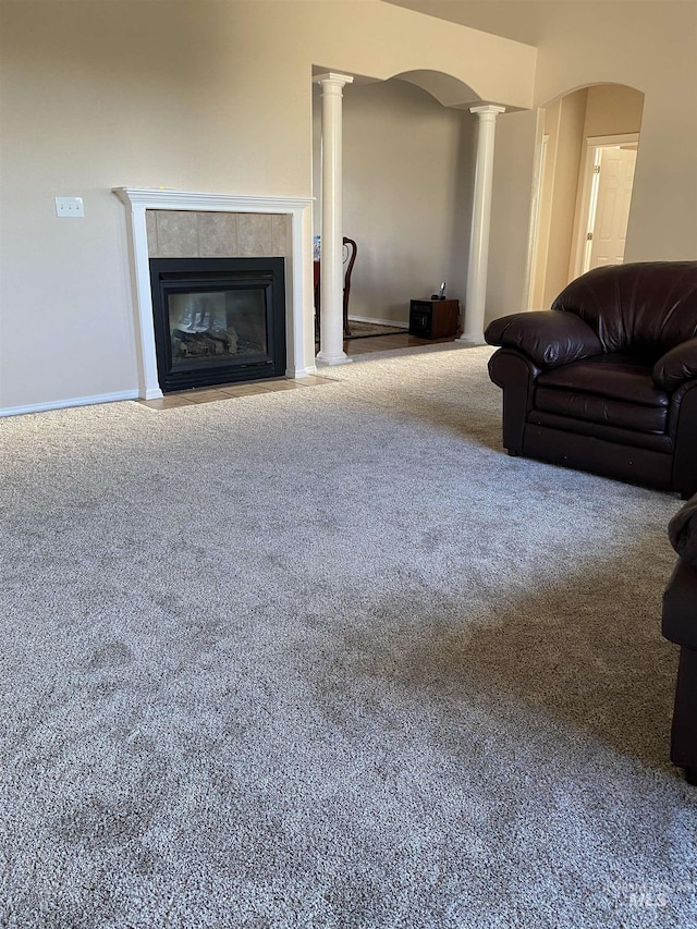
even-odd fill
[(485, 338), (509, 454), (697, 491), (697, 261), (596, 268)]

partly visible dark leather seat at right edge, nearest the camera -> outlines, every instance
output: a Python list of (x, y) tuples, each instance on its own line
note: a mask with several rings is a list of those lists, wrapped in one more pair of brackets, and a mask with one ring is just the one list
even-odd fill
[(673, 516), (668, 534), (680, 554), (663, 594), (663, 635), (680, 646), (671, 761), (697, 784), (697, 496)]

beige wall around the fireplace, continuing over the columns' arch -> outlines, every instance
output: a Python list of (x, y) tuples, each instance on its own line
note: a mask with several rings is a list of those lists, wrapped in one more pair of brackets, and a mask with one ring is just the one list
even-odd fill
[[(463, 105), (531, 102), (534, 49), (378, 0), (0, 0), (0, 16), (5, 410), (136, 388), (112, 187), (310, 196), (314, 66), (442, 70)], [(56, 195), (85, 218), (58, 219)]]

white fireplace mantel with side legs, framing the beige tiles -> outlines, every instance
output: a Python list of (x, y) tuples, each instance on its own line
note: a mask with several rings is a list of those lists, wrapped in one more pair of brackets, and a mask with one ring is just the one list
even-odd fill
[(114, 187), (113, 193), (129, 210), (138, 342), (138, 393), (142, 399), (162, 396), (157, 377), (146, 210), (286, 215), (290, 218), (290, 260), (285, 269), (285, 374), (286, 377), (298, 378), (315, 372), (311, 197), (235, 196), (135, 187)]

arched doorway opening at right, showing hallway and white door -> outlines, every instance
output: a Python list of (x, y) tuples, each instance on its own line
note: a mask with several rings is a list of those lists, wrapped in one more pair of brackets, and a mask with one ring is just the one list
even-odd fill
[(529, 309), (592, 267), (622, 264), (643, 107), (633, 87), (595, 84), (540, 110)]

